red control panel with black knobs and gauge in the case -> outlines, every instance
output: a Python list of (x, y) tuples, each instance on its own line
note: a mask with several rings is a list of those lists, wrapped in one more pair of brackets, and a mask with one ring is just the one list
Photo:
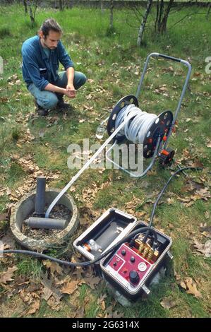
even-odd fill
[(125, 287), (138, 287), (150, 272), (152, 263), (144, 259), (135, 248), (124, 243), (107, 263), (107, 271)]

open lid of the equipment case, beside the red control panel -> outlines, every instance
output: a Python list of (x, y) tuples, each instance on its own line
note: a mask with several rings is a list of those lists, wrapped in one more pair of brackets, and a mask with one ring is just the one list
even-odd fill
[(125, 237), (136, 222), (133, 215), (109, 208), (73, 242), (73, 247), (90, 260), (97, 259)]

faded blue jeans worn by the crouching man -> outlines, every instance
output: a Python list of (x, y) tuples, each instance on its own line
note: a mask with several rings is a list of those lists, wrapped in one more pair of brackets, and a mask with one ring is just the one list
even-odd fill
[[(85, 84), (86, 76), (80, 71), (75, 71), (73, 85), (76, 90), (80, 88), (83, 84)], [(54, 85), (59, 86), (60, 88), (66, 88), (68, 83), (68, 79), (66, 76), (66, 71), (61, 71), (59, 73), (59, 79), (54, 83)], [(43, 107), (44, 109), (52, 109), (56, 107), (57, 103), (63, 95), (61, 93), (52, 93), (51, 91), (40, 90), (35, 84), (31, 83), (28, 86), (28, 90), (37, 100), (37, 104)]]

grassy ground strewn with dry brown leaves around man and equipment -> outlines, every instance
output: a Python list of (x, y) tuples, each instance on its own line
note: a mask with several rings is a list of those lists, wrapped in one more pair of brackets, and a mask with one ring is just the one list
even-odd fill
[[(173, 239), (174, 266), (147, 299), (123, 307), (108, 292), (92, 267), (64, 268), (57, 263), (27, 256), (6, 255), (0, 266), (0, 315), (7, 317), (207, 317), (210, 316), (210, 74), (205, 59), (211, 55), (210, 16), (196, 8), (174, 11), (167, 35), (153, 32), (152, 11), (142, 47), (136, 48), (138, 23), (133, 11), (114, 11), (116, 32), (109, 34), (109, 13), (73, 8), (38, 9), (37, 26), (30, 28), (22, 6), (0, 7), (0, 240), (4, 248), (17, 248), (9, 229), (11, 211), (25, 194), (35, 189), (37, 175), (47, 185), (62, 189), (77, 170), (69, 170), (70, 143), (83, 149), (83, 138), (96, 143), (95, 131), (108, 111), (124, 95), (135, 94), (145, 57), (160, 52), (191, 62), (190, 85), (182, 103), (176, 133), (176, 165), (200, 166), (169, 185), (159, 202), (155, 227)], [(198, 11), (198, 8), (197, 8)], [(183, 16), (186, 20), (174, 25)], [(193, 14), (193, 15), (192, 15)], [(20, 72), (20, 47), (35, 35), (47, 17), (64, 27), (63, 42), (76, 64), (88, 76), (78, 91), (71, 112), (53, 111), (38, 117)], [(186, 68), (169, 61), (152, 61), (140, 108), (159, 114), (176, 109)], [(97, 141), (99, 143), (100, 141)], [(101, 141), (102, 142), (102, 141)], [(85, 150), (83, 157), (91, 155)], [(71, 187), (80, 213), (80, 227), (67, 249), (48, 254), (81, 261), (72, 242), (107, 208), (114, 206), (149, 220), (152, 204), (172, 170), (157, 165), (144, 179), (136, 180), (119, 170), (87, 170)]]

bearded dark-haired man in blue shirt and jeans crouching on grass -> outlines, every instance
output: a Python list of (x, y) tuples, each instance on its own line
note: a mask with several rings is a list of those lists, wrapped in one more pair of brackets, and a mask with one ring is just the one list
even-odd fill
[[(38, 35), (25, 40), (22, 46), (23, 79), (40, 115), (47, 115), (49, 109), (67, 109), (69, 104), (64, 95), (76, 97), (76, 90), (85, 84), (86, 77), (74, 71), (73, 61), (61, 43), (61, 26), (53, 18), (45, 20)], [(59, 72), (59, 62), (65, 71)]]

